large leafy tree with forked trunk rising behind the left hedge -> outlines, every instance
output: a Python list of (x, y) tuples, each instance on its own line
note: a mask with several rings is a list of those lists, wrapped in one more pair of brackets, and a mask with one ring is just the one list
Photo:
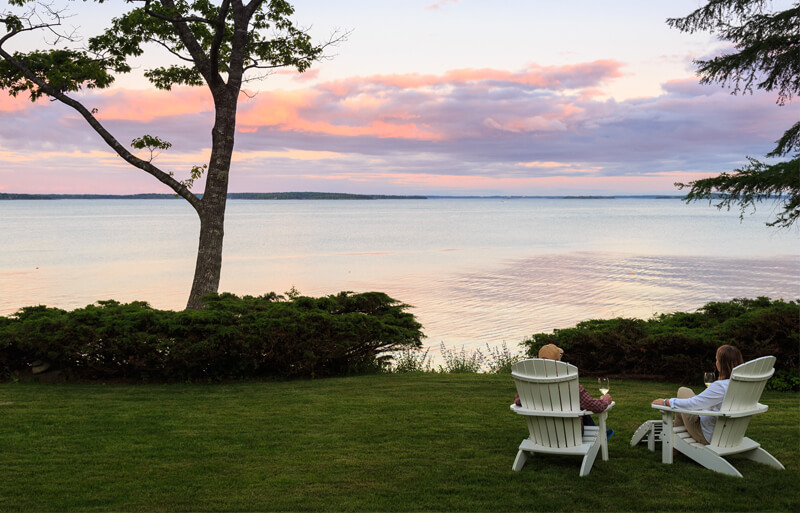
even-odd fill
[[(6, 27), (0, 38), (0, 88), (12, 96), (27, 94), (32, 101), (46, 97), (73, 108), (120, 157), (192, 205), (200, 218), (200, 237), (187, 308), (202, 308), (201, 297), (219, 287), (228, 176), (243, 83), (262, 78), (275, 68), (291, 66), (303, 72), (323, 58), (326, 46), (343, 36), (334, 34), (324, 44), (313, 44), (307, 31), (290, 20), (294, 8), (284, 0), (127, 3), (139, 6), (114, 18), (103, 33), (79, 48), (78, 38), (64, 28), (65, 8), (55, 9), (41, 0), (9, 0), (7, 10), (0, 11), (0, 22)], [(53, 39), (47, 50), (12, 54), (4, 48), (17, 36), (40, 31)], [(95, 117), (96, 109), (70, 96), (82, 89), (111, 86), (115, 74), (131, 71), (130, 58), (154, 46), (165, 49), (175, 61), (144, 72), (156, 88), (169, 91), (176, 85), (205, 85), (214, 102), (210, 159), (203, 166), (194, 166), (191, 178), (184, 181), (152, 162), (155, 152), (168, 149), (170, 143), (152, 135), (134, 139), (132, 147), (150, 150), (150, 159), (141, 159), (106, 130)], [(206, 185), (199, 196), (190, 187), (203, 172)]]

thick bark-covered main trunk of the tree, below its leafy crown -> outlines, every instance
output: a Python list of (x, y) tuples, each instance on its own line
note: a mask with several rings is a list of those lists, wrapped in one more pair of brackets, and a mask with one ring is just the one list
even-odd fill
[(197, 209), (200, 216), (200, 241), (194, 269), (192, 292), (187, 309), (200, 310), (204, 295), (219, 290), (222, 272), (222, 239), (225, 232), (225, 204), (228, 200), (228, 176), (233, 155), (233, 136), (236, 131), (235, 92), (216, 91), (214, 94), (216, 120), (211, 131), (211, 160), (208, 165), (206, 188)]

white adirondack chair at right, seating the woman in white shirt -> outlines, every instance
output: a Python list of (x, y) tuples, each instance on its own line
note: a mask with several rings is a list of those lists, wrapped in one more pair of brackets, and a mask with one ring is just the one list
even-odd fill
[[(781, 462), (762, 449), (760, 444), (744, 436), (752, 416), (767, 411), (767, 407), (758, 400), (761, 399), (761, 392), (767, 380), (775, 372), (774, 367), (774, 356), (756, 358), (734, 367), (728, 390), (718, 412), (681, 410), (653, 405), (653, 408), (661, 410), (662, 413), (661, 461), (672, 463), (672, 447), (674, 447), (700, 465), (731, 476), (742, 477), (742, 474), (724, 459), (725, 456), (732, 454), (741, 454), (753, 461), (783, 469)], [(684, 426), (673, 427), (675, 412), (718, 417), (711, 443), (708, 445), (698, 443)]]

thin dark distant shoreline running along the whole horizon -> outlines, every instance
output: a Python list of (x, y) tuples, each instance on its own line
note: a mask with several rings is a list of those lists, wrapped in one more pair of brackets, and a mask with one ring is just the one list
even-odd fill
[[(199, 195), (202, 196), (202, 195)], [(390, 194), (347, 194), (338, 192), (231, 192), (228, 199), (243, 200), (397, 200), (397, 199), (681, 199), (683, 196), (658, 194), (624, 196), (402, 196)], [(181, 199), (174, 194), (18, 194), (0, 192), (0, 201), (10, 200), (171, 200)]]

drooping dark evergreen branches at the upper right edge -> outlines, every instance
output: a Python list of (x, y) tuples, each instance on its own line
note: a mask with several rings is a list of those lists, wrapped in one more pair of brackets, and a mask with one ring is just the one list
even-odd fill
[[(720, 82), (734, 94), (752, 94), (754, 87), (776, 91), (783, 106), (800, 92), (800, 3), (777, 12), (768, 10), (771, 5), (768, 0), (710, 0), (667, 23), (682, 32), (716, 33), (733, 44), (730, 53), (695, 61), (702, 84)], [(788, 228), (800, 217), (800, 122), (766, 156), (789, 158), (769, 164), (747, 157), (749, 163), (731, 173), (675, 185), (690, 188), (687, 202), (717, 199), (717, 208), (739, 205), (740, 219), (756, 203), (776, 201), (780, 211), (767, 225)]]

